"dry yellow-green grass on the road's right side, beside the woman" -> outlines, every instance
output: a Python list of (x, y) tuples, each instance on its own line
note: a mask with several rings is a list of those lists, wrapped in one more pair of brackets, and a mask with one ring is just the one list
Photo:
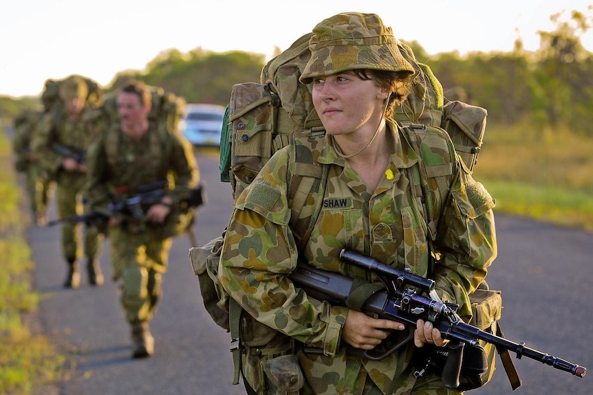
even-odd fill
[(475, 168), (500, 212), (593, 231), (593, 137), (489, 125)]

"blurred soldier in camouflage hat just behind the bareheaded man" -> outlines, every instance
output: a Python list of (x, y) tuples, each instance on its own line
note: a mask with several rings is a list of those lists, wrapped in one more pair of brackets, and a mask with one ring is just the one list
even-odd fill
[[(50, 87), (58, 100), (52, 109), (46, 108), (49, 111), (41, 118), (32, 148), (39, 157), (41, 166), (56, 179), (58, 214), (61, 218), (66, 218), (83, 211), (86, 150), (96, 137), (83, 121), (83, 113), (89, 109), (88, 99), (96, 97), (98, 89), (94, 82), (80, 76), (69, 76), (59, 82), (49, 80), (46, 91), (50, 91)], [(65, 287), (78, 288), (80, 284), (78, 259), (82, 253), (78, 227), (79, 224), (72, 221), (62, 223), (63, 253), (67, 262)], [(103, 284), (103, 273), (98, 260), (102, 240), (97, 227), (87, 224), (84, 253), (91, 285)]]

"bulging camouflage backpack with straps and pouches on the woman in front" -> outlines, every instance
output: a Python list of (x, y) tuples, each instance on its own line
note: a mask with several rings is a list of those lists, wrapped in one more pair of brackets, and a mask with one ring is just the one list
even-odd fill
[[(219, 166), (221, 181), (231, 183), (233, 196), (237, 199), (270, 157), (277, 150), (290, 146), (290, 158), (295, 162), (294, 172), (289, 173), (290, 225), (299, 249), (308, 240), (321, 210), (326, 174), (325, 166), (310, 166), (313, 164), (310, 144), (325, 132), (314, 110), (309, 87), (299, 82), (300, 70), (310, 58), (310, 36), (302, 36), (270, 60), (262, 69), (260, 83), (245, 82), (233, 86), (226, 108)], [(440, 207), (440, 201), (448, 193), (448, 184), (439, 169), (440, 163), (430, 163), (427, 155), (422, 155), (422, 149), (438, 147), (449, 153), (457, 149), (463, 159), (462, 166), (471, 172), (482, 147), (486, 110), (458, 101), (443, 104), (442, 86), (430, 68), (416, 62), (411, 48), (403, 43), (400, 43), (400, 52), (416, 69), (416, 74), (413, 89), (402, 106), (396, 108), (394, 119), (405, 126), (411, 146), (423, 158), (422, 169), (414, 166), (417, 172), (415, 182), (420, 186), (427, 182), (440, 185), (442, 196), (438, 196), (436, 202), (427, 199), (424, 205), (424, 217), (434, 239), (434, 209)], [(206, 311), (218, 326), (230, 332), (233, 341), (238, 341), (241, 308), (226, 294), (217, 278), (223, 242), (224, 232), (206, 245), (190, 249), (189, 258), (200, 283)], [(473, 303), (473, 321), (479, 322), (473, 324), (480, 324), (482, 330), (490, 328), (495, 331), (502, 308), (500, 293), (486, 291), (486, 297), (484, 293), (480, 295), (482, 299)], [(484, 385), (494, 372), (495, 348), (485, 342), (483, 346), (487, 349), (488, 367), (473, 374), (473, 382), (462, 383), (465, 389)], [(233, 352), (233, 359), (233, 383), (236, 384), (240, 370), (238, 352)]]

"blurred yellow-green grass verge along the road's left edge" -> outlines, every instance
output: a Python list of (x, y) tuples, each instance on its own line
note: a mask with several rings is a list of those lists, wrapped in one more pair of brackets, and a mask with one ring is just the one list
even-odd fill
[(39, 333), (34, 317), (39, 294), (31, 289), (34, 263), (24, 238), (21, 194), (12, 165), (12, 150), (0, 134), (0, 394), (28, 395), (58, 379), (65, 359)]

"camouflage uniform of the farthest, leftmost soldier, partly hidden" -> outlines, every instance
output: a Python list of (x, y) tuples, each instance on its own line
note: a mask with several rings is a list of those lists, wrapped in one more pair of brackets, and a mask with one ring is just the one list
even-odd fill
[(44, 176), (39, 161), (31, 150), (32, 138), (41, 114), (38, 111), (27, 111), (17, 117), (14, 122), (16, 131), (12, 144), (17, 155), (17, 171), (25, 174), (25, 190), (29, 197), (33, 221), (40, 226), (45, 225), (47, 201), (51, 193), (51, 181)]

